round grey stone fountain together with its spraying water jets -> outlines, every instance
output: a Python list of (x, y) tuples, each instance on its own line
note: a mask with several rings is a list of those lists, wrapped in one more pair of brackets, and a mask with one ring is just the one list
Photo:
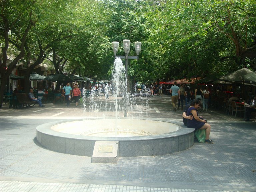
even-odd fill
[[(142, 112), (148, 106), (145, 93), (133, 97), (124, 89), (124, 67), (121, 59), (116, 58), (109, 98), (95, 89), (89, 97), (84, 96), (85, 112), (95, 113), (96, 117), (40, 125), (36, 128), (37, 141), (47, 149), (82, 156), (93, 156), (98, 141), (105, 142), (96, 149), (104, 155), (112, 152), (117, 143), (117, 156), (128, 157), (174, 153), (194, 144), (193, 129), (180, 128), (171, 119), (147, 117)], [(128, 117), (121, 117), (125, 105)]]

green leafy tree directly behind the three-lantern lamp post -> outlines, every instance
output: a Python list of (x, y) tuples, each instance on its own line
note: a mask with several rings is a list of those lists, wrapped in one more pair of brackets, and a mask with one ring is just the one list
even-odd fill
[[(122, 40), (131, 41), (130, 55), (136, 55), (133, 43), (142, 42), (139, 61), (129, 60), (128, 78), (134, 81), (146, 81), (162, 76), (165, 71), (165, 62), (159, 57), (158, 53), (162, 50), (158, 43), (150, 41), (152, 33), (151, 23), (148, 21), (148, 13), (151, 12), (151, 1), (108, 1), (111, 10), (111, 18), (108, 21), (108, 33), (110, 41), (120, 43), (119, 55), (124, 55)], [(113, 58), (113, 53), (112, 58)], [(113, 59), (112, 59), (113, 63)], [(109, 66), (111, 69), (111, 66)], [(110, 70), (111, 71), (111, 70)]]

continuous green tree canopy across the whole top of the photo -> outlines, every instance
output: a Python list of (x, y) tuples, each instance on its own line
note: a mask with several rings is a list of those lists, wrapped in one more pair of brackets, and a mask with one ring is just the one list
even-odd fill
[(256, 68), (256, 0), (1, 0), (0, 9), (1, 82), (20, 61), (25, 79), (46, 61), (56, 72), (110, 78), (111, 42), (124, 55), (123, 39), (142, 42), (139, 61), (129, 61), (135, 81)]

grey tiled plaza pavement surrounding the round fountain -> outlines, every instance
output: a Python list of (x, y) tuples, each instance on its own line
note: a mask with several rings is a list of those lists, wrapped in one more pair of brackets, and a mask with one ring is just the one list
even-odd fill
[[(176, 119), (171, 98), (150, 97), (148, 117)], [(128, 111), (128, 117), (133, 112)], [(201, 113), (211, 124), (214, 144), (181, 152), (119, 157), (117, 164), (91, 163), (91, 157), (49, 151), (37, 145), (36, 127), (58, 119), (102, 116), (65, 104), (0, 109), (0, 192), (235, 192), (256, 191), (256, 123), (222, 111)], [(122, 115), (122, 114), (121, 114)], [(139, 147), (139, 146), (138, 146)]]

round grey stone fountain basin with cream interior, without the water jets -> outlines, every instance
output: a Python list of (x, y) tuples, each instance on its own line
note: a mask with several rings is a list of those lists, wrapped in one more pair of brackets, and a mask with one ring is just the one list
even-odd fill
[(36, 128), (36, 139), (49, 150), (92, 156), (96, 141), (119, 143), (118, 156), (174, 153), (194, 144), (194, 129), (170, 120), (90, 119), (45, 123)]

